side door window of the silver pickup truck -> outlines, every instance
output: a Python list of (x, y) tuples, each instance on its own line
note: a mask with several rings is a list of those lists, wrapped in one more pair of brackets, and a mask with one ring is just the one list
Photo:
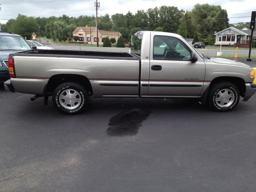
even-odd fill
[(154, 36), (154, 60), (191, 59), (191, 50), (179, 39), (168, 36)]

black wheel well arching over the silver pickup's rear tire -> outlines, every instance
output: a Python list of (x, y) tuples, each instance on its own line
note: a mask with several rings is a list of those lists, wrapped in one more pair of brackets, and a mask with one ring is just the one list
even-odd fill
[(88, 91), (89, 95), (93, 95), (92, 92), (92, 85), (89, 81), (88, 78), (82, 75), (76, 75), (76, 74), (58, 74), (51, 76), (50, 79), (48, 80), (47, 84), (47, 93), (52, 94), (54, 89), (64, 83), (64, 82), (76, 82), (79, 83), (80, 85), (84, 86), (86, 90)]

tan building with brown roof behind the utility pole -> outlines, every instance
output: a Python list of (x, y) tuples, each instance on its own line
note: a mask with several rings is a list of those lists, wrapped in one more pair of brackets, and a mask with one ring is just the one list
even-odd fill
[[(76, 29), (73, 31), (73, 36), (79, 37), (79, 42), (88, 42), (88, 44), (97, 44), (97, 37), (96, 37), (96, 27), (76, 27)], [(120, 32), (116, 31), (104, 31), (104, 30), (98, 30), (98, 42), (99, 44), (103, 44), (102, 38), (104, 37), (115, 38), (116, 41), (122, 34)]]

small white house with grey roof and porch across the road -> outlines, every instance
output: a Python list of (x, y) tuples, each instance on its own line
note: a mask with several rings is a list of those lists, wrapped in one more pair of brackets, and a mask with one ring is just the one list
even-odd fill
[[(227, 46), (238, 46), (238, 47), (249, 47), (251, 30), (244, 28), (239, 30), (234, 27), (226, 28), (216, 34), (214, 45), (227, 45)], [(256, 40), (256, 32), (254, 30), (253, 40)]]

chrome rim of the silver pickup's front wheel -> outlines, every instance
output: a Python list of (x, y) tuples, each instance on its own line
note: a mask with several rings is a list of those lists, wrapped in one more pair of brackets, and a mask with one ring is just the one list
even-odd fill
[(235, 100), (235, 94), (230, 89), (220, 90), (215, 97), (215, 102), (219, 107), (229, 107)]

